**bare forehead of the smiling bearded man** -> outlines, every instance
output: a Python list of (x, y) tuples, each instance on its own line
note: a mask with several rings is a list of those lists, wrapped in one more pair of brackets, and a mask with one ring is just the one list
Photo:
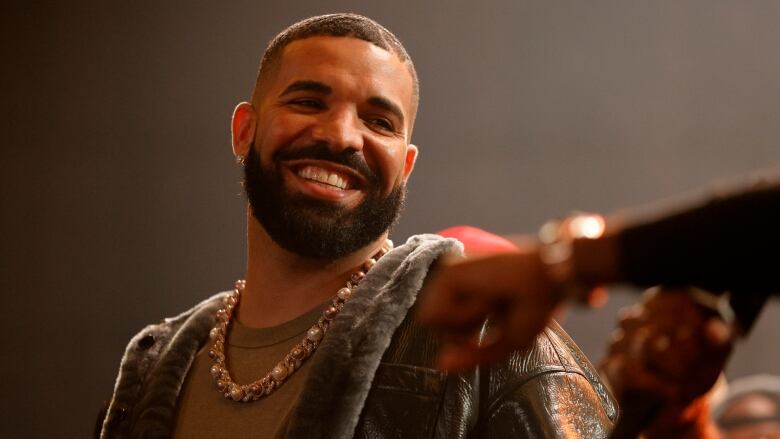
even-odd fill
[(413, 80), (398, 56), (351, 37), (317, 36), (296, 40), (284, 48), (270, 94), (300, 80), (323, 82), (336, 93), (382, 96), (409, 111)]

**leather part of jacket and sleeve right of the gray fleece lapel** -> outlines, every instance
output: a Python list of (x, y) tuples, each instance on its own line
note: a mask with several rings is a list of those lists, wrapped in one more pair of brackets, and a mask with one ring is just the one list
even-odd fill
[(535, 345), (473, 373), (432, 367), (437, 339), (412, 319), (377, 369), (359, 438), (603, 438), (614, 400), (566, 332), (552, 323)]

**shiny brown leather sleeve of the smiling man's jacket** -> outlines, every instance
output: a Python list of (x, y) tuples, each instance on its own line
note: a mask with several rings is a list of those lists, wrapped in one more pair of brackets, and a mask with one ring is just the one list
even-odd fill
[(593, 366), (555, 323), (486, 375), (482, 437), (606, 438), (617, 419)]

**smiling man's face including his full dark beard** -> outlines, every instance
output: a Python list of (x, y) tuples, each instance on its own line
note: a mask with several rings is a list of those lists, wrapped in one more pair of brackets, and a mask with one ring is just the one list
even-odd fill
[(275, 242), (336, 259), (395, 221), (416, 157), (413, 83), (395, 54), (341, 37), (292, 42), (253, 102), (252, 212)]

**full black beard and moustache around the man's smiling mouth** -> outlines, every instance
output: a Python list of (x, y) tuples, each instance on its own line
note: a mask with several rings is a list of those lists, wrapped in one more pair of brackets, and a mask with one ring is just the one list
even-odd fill
[[(369, 181), (367, 193), (354, 208), (292, 194), (284, 187), (281, 162), (290, 158), (330, 160), (351, 167)], [(333, 261), (377, 240), (395, 225), (406, 198), (406, 185), (381, 194), (381, 179), (351, 151), (335, 154), (325, 145), (281, 152), (266, 168), (254, 145), (244, 166), (244, 189), (252, 215), (282, 248), (298, 255)]]

